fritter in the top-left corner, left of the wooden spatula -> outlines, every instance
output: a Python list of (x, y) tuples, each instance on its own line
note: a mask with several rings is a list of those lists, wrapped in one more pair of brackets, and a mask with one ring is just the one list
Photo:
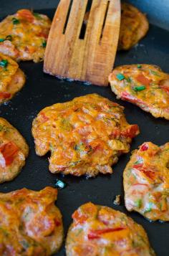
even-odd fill
[(17, 61), (42, 61), (50, 27), (46, 15), (21, 9), (0, 22), (0, 52)]

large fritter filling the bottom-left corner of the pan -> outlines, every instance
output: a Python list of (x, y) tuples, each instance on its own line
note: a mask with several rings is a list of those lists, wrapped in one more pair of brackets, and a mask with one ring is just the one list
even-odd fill
[(48, 256), (63, 240), (57, 189), (20, 189), (0, 193), (0, 255)]

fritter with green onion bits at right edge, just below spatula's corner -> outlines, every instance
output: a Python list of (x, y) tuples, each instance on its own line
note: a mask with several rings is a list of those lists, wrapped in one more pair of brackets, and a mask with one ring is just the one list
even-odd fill
[(169, 75), (154, 65), (116, 67), (109, 77), (117, 98), (134, 103), (155, 118), (169, 120)]

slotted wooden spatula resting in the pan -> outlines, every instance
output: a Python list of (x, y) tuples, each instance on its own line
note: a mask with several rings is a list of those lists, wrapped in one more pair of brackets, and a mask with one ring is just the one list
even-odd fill
[[(90, 1), (91, 2), (91, 1)], [(44, 72), (108, 85), (120, 32), (120, 0), (61, 0), (44, 57)], [(84, 15), (90, 6), (87, 27)]]

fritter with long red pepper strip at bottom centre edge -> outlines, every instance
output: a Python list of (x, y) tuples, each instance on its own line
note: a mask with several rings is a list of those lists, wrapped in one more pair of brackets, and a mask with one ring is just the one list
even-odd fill
[(92, 203), (72, 214), (67, 256), (153, 256), (143, 227), (122, 212)]

